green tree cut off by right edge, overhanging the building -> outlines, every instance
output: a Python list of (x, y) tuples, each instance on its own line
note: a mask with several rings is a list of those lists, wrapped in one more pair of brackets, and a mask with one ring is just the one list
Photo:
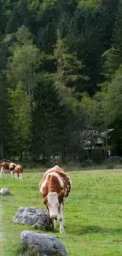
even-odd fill
[(116, 154), (122, 154), (122, 66), (116, 71), (113, 80), (109, 83), (106, 95), (107, 113), (111, 132), (112, 143)]

